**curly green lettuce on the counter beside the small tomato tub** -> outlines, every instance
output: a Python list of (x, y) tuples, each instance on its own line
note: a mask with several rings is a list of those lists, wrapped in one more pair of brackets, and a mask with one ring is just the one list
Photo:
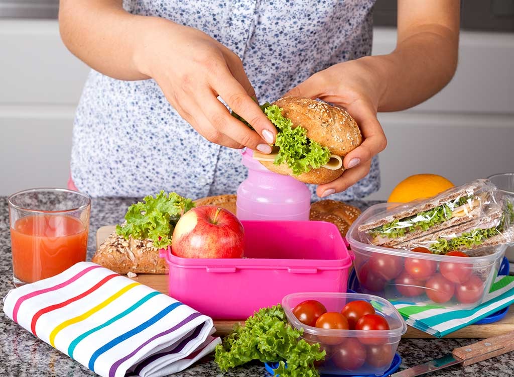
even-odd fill
[(279, 362), (276, 373), (282, 377), (317, 377), (314, 362), (324, 359), (326, 353), (319, 344), (299, 339), (302, 333), (303, 329), (293, 329), (287, 322), (281, 305), (263, 308), (248, 318), (244, 327), (236, 325), (216, 346), (214, 361), (221, 370), (252, 360)]

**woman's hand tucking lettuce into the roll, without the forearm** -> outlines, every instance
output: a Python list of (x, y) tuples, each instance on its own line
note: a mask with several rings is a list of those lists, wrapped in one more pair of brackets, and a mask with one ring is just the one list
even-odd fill
[[(148, 21), (134, 64), (159, 84), (180, 116), (213, 143), (271, 152), (277, 131), (252, 99), (255, 91), (241, 59), (202, 31), (164, 19)], [(217, 96), (256, 132), (231, 116)]]

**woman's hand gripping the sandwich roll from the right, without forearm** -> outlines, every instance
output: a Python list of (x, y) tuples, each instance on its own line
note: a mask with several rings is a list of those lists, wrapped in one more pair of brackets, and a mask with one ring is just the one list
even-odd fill
[(386, 88), (369, 57), (346, 61), (320, 71), (291, 89), (284, 96), (319, 98), (343, 107), (359, 125), (362, 144), (343, 159), (347, 169), (335, 181), (318, 186), (317, 194), (325, 197), (345, 191), (370, 172), (373, 156), (384, 150), (386, 135), (377, 119), (377, 108)]

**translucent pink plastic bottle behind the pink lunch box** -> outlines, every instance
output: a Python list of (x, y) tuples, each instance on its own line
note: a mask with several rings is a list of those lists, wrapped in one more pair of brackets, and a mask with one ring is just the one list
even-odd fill
[(270, 172), (253, 159), (253, 150), (243, 151), (248, 178), (237, 189), (240, 220), (308, 220), (310, 190), (290, 176)]

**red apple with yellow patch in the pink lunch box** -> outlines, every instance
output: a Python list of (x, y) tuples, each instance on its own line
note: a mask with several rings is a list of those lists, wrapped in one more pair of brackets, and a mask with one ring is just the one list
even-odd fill
[(180, 217), (171, 249), (182, 258), (243, 258), (244, 234), (241, 221), (230, 211), (201, 205)]

